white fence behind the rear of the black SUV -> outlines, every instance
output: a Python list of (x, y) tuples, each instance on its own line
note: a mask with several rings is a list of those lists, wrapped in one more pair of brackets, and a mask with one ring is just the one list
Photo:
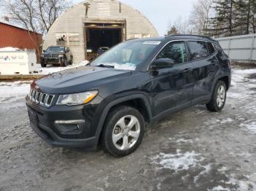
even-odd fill
[(256, 62), (256, 34), (216, 39), (231, 61)]

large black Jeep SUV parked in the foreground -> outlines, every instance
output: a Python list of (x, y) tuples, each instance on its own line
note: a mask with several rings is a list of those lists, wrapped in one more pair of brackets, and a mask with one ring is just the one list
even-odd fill
[(31, 128), (53, 146), (95, 149), (115, 157), (138, 148), (145, 122), (206, 104), (225, 106), (230, 61), (204, 36), (132, 39), (90, 66), (37, 79), (26, 97)]

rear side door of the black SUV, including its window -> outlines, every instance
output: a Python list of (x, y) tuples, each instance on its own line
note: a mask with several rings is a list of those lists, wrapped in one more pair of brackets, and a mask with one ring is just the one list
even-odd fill
[(211, 98), (211, 87), (219, 69), (214, 46), (211, 42), (188, 41), (190, 59), (193, 66), (194, 88), (192, 104)]

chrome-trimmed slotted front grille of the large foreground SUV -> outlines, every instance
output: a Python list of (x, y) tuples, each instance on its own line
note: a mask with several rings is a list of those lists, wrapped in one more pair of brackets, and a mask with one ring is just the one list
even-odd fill
[(34, 104), (38, 104), (40, 106), (49, 107), (53, 103), (54, 95), (50, 95), (48, 93), (41, 93), (38, 90), (31, 89), (29, 93), (29, 99)]

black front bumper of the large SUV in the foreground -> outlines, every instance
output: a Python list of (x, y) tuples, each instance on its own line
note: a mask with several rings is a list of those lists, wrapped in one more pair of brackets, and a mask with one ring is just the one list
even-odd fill
[[(85, 106), (52, 106), (44, 108), (26, 98), (31, 128), (37, 135), (56, 147), (83, 147), (96, 149), (99, 137), (94, 113), (102, 98), (95, 98), (94, 104)], [(67, 123), (65, 123), (67, 122)], [(77, 124), (75, 123), (77, 122)], [(73, 125), (72, 130), (67, 130)], [(74, 125), (79, 127), (74, 130)]]

